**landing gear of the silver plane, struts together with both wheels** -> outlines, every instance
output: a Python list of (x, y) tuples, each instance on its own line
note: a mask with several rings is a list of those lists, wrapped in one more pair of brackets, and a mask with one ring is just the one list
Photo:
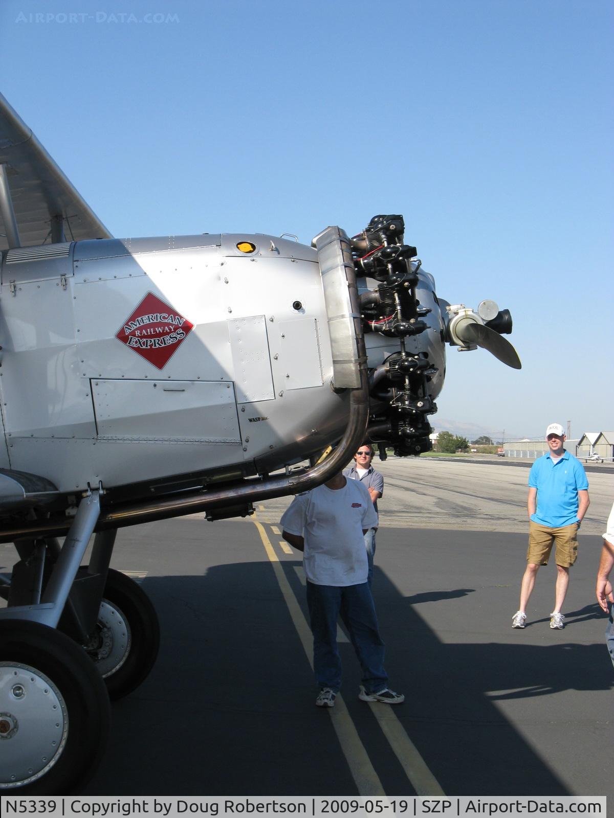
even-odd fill
[(156, 661), (160, 631), (142, 589), (109, 569), (115, 531), (98, 533), (99, 492), (81, 501), (65, 542), (20, 540), (0, 609), (0, 792), (67, 794), (106, 748), (109, 697)]

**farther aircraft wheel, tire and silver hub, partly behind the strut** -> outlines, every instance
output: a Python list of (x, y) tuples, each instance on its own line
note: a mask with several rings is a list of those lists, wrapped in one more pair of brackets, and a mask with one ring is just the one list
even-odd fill
[(109, 569), (97, 631), (85, 645), (111, 699), (121, 699), (144, 681), (156, 662), (160, 626), (149, 597), (136, 582)]

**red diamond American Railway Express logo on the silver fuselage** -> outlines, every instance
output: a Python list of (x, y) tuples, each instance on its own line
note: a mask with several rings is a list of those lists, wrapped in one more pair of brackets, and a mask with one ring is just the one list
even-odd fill
[(147, 293), (124, 321), (115, 338), (153, 366), (164, 369), (192, 332), (193, 326), (157, 295)]

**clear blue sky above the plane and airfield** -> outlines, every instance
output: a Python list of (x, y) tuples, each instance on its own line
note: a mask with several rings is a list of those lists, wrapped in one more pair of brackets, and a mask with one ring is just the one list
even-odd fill
[(0, 90), (116, 236), (403, 213), (523, 362), (449, 348), (432, 424), (576, 437), (614, 428), (613, 24), (610, 0), (3, 0)]

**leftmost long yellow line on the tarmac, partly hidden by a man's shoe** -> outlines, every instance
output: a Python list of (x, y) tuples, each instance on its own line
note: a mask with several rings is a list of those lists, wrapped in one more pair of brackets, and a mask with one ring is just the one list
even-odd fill
[[(296, 596), (292, 592), (290, 583), (287, 581), (285, 573), (281, 564), (279, 563), (278, 555), (273, 551), (271, 541), (267, 536), (264, 526), (255, 520), (252, 520), (255, 527), (258, 529), (260, 539), (264, 546), (267, 556), (273, 566), (275, 578), (277, 578), (278, 585), (282, 591), (282, 596), (286, 602), (294, 627), (299, 635), (300, 643), (303, 645), (305, 654), (309, 660), (309, 664), (314, 667), (312, 658), (313, 637), (311, 630), (307, 624), (307, 620), (300, 609), (300, 605), (296, 601)], [(337, 694), (335, 699), (335, 707), (328, 710), (332, 720), (332, 726), (335, 728), (337, 739), (341, 744), (341, 750), (345, 755), (345, 760), (348, 762), (350, 772), (354, 778), (354, 782), (359, 791), (359, 795), (386, 795), (384, 788), (377, 772), (373, 769), (372, 763), (369, 760), (368, 753), (364, 748), (364, 744), (360, 740), (358, 730), (354, 726), (354, 721), (347, 712), (345, 702), (341, 694)]]

